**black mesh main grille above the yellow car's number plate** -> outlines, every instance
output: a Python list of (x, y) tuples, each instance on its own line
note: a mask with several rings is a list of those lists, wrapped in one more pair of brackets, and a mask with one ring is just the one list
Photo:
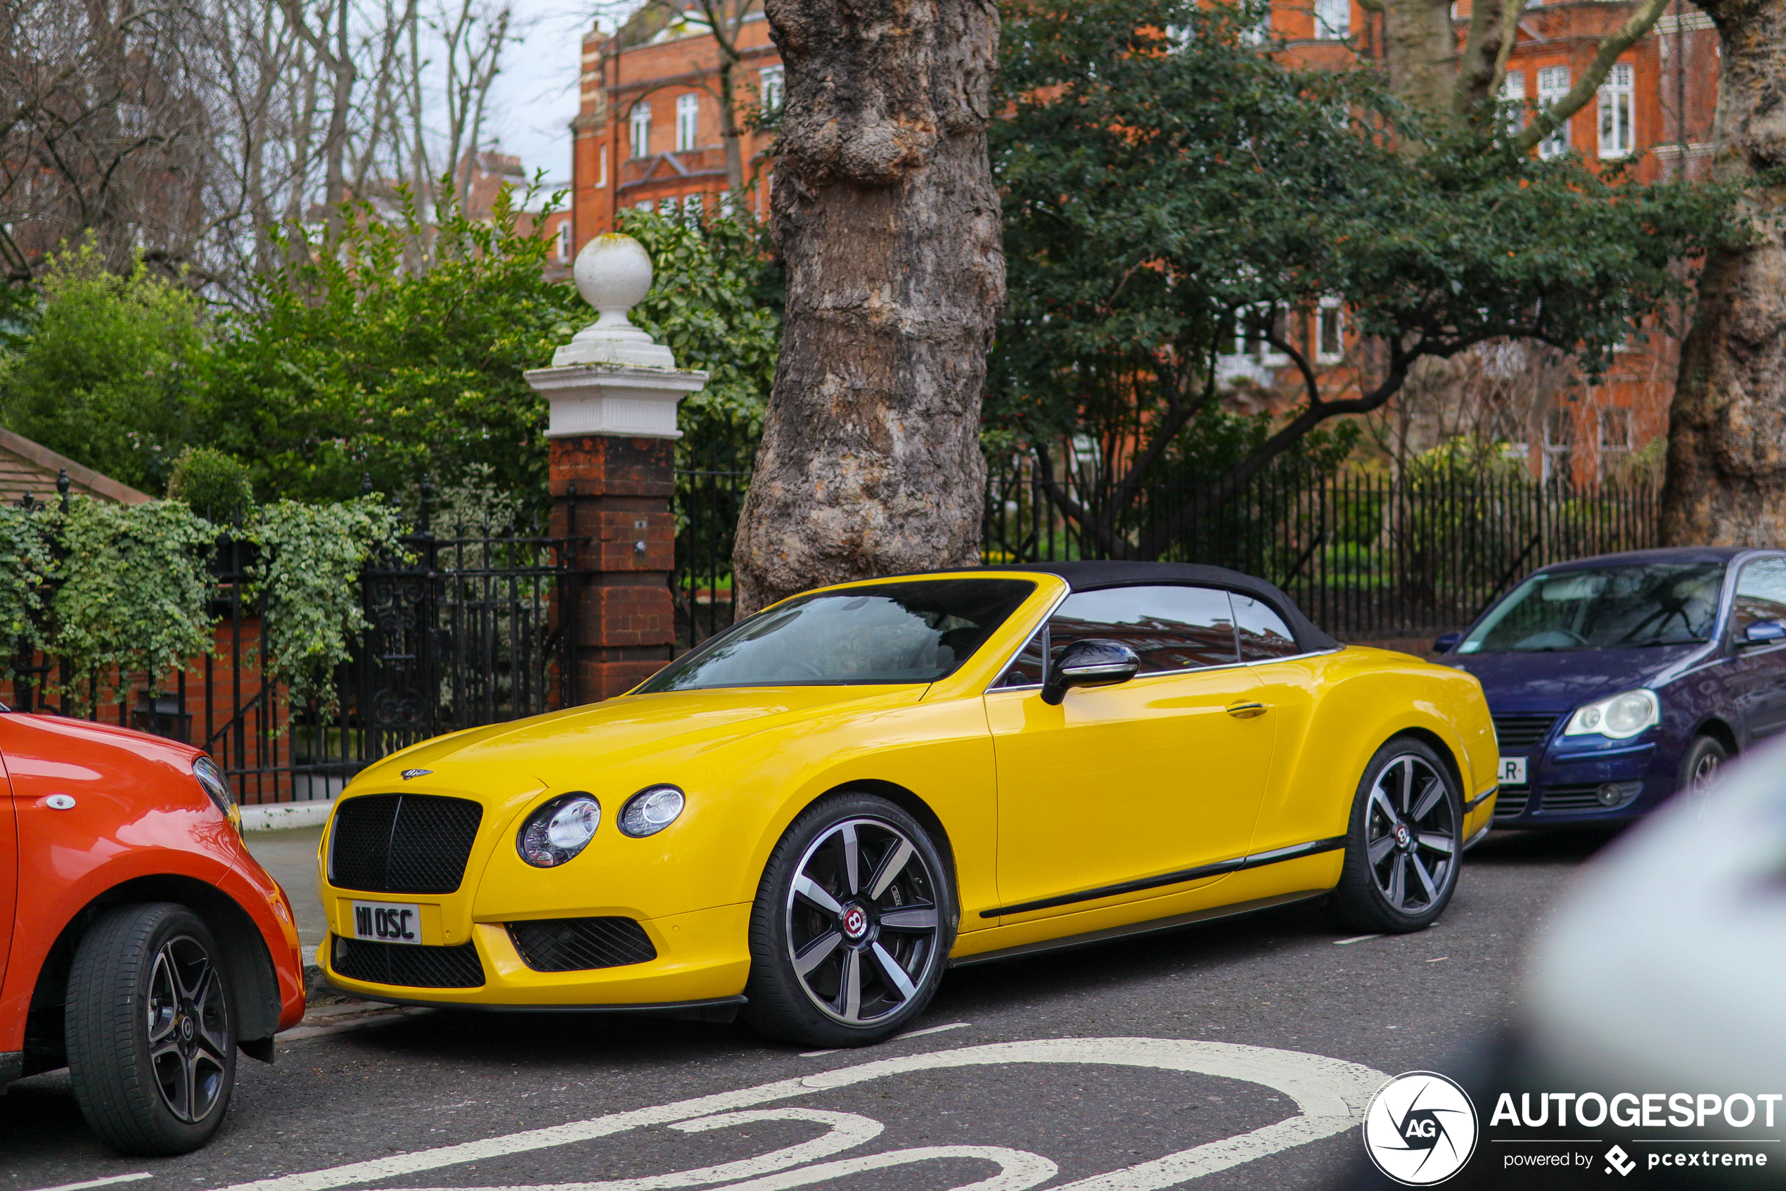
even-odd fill
[(484, 807), (470, 798), (366, 795), (336, 807), (329, 880), (366, 893), (452, 893)]

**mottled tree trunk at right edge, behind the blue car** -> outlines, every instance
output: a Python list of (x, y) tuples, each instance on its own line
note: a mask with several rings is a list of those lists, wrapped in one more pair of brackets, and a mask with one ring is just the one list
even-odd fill
[[(1700, 0), (1722, 45), (1713, 175), (1786, 166), (1786, 2)], [(1786, 541), (1786, 187), (1752, 189), (1752, 243), (1713, 248), (1681, 346), (1668, 425), (1663, 541), (1777, 546)]]

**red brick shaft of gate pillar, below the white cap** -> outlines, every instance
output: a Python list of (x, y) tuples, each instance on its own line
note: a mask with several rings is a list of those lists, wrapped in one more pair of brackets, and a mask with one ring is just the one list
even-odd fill
[(577, 698), (591, 704), (670, 661), (675, 443), (618, 434), (550, 443), (552, 536), (584, 539), (568, 661), (577, 668)]

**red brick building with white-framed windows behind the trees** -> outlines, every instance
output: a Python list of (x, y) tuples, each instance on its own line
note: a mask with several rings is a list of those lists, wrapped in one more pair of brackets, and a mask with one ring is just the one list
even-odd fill
[[(1470, 0), (1456, 0), (1459, 45), (1468, 30)], [(1625, 0), (1557, 0), (1532, 4), (1518, 25), (1507, 61), (1506, 95), (1529, 104), (1559, 98), (1588, 70), (1600, 39), (1631, 14)], [(1382, 59), (1382, 16), (1356, 0), (1277, 0), (1272, 29), (1291, 59), (1334, 68)], [(780, 55), (761, 12), (738, 36), (738, 107), (743, 118), (773, 111), (780, 98)], [(572, 211), (564, 246), (575, 254), (589, 237), (613, 227), (622, 207), (702, 209), (722, 205), (725, 152), (714, 86), (718, 46), (689, 25), (652, 29), (638, 21), (620, 34), (589, 32), (582, 43), (580, 111), (573, 121)], [(1709, 164), (1711, 120), (1718, 98), (1718, 36), (1698, 9), (1675, 0), (1657, 27), (1620, 57), (1598, 102), (1588, 104), (1568, 129), (1540, 152), (1579, 150), (1590, 162), (1641, 154), (1638, 177), (1698, 177)], [(768, 211), (772, 136), (747, 132), (745, 202)], [(1323, 366), (1325, 386), (1340, 391), (1368, 371), (1359, 343), (1347, 329), (1340, 302), (1291, 318), (1291, 334), (1307, 343)], [(1668, 427), (1679, 327), (1647, 327), (1632, 336), (1613, 370), (1597, 384), (1570, 384), (1536, 364), (1536, 354), (1500, 350), (1477, 357), (1488, 384), (1463, 384), (1454, 402), (1475, 400), (1491, 387), (1515, 409), (1500, 416), (1497, 436), (1523, 445), (1540, 475), (1595, 482), (1616, 473), (1632, 452)], [(1234, 409), (1279, 411), (1298, 400), (1297, 371), (1263, 343), (1239, 339), (1222, 361)], [(1472, 379), (1465, 379), (1466, 382)], [(1447, 418), (1409, 412), (1402, 402), (1402, 446), (1422, 450), (1447, 436)]]

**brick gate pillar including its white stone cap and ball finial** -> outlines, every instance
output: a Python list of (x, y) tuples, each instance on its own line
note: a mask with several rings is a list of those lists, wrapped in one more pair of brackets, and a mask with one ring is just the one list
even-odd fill
[(552, 536), (573, 539), (577, 552), (575, 582), (557, 609), (573, 698), (593, 704), (670, 661), (670, 496), (682, 437), (675, 405), (698, 393), (707, 373), (677, 368), (670, 348), (627, 320), (652, 287), (652, 259), (639, 241), (597, 236), (572, 273), (600, 318), (557, 348), (550, 368), (525, 375), (550, 407)]

